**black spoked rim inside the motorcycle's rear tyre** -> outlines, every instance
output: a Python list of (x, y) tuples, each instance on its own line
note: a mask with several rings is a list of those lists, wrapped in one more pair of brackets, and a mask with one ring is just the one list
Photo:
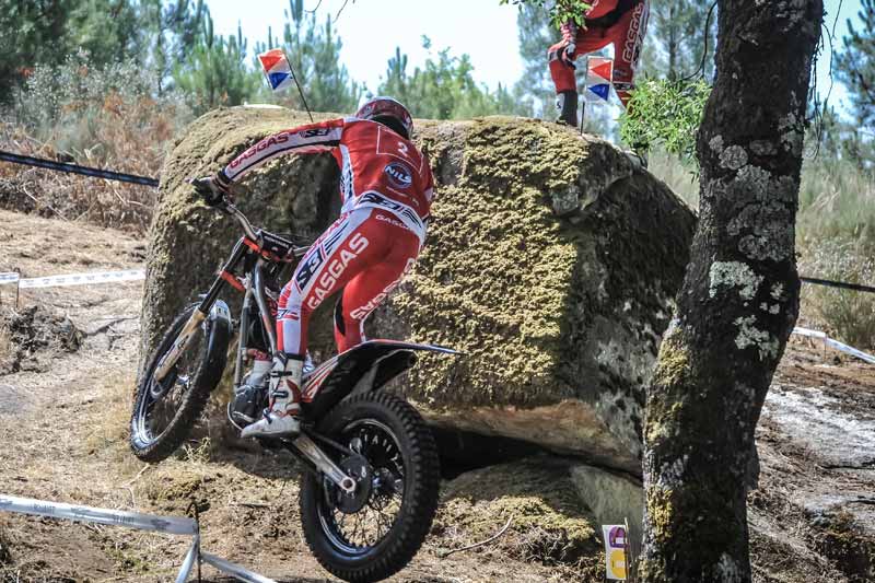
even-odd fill
[[(360, 419), (343, 428), (340, 443), (364, 458), (369, 471), (359, 483), (357, 492), (369, 491), (363, 504), (350, 512), (349, 501), (330, 481), (323, 480), (317, 513), (327, 539), (339, 551), (348, 556), (362, 556), (382, 543), (401, 514), (406, 471), (401, 447), (395, 432), (375, 419)], [(354, 459), (352, 459), (354, 464)], [(353, 477), (358, 478), (358, 475)]]

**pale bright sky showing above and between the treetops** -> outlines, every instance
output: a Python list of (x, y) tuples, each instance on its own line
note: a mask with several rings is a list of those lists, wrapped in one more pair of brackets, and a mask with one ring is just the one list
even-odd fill
[[(658, 1), (658, 0), (656, 0)], [(207, 0), (215, 30), (223, 35), (236, 34), (237, 22), (243, 34), (254, 40), (267, 38), (268, 26), (275, 35), (282, 30), (283, 10), (288, 0)], [(305, 9), (314, 9), (318, 0), (304, 0)], [(323, 0), (320, 19), (335, 16), (343, 0)], [(244, 9), (241, 9), (244, 5)], [(256, 8), (257, 7), (257, 8)], [(827, 24), (838, 14), (836, 47), (847, 34), (847, 20), (856, 20), (860, 0), (825, 0)], [(840, 9), (840, 10), (839, 10)], [(385, 74), (386, 61), (399, 46), (409, 56), (409, 70), (427, 57), (422, 35), (432, 39), (434, 49), (450, 47), (453, 55), (467, 53), (475, 67), (475, 79), (494, 89), (499, 83), (512, 85), (520, 78), (523, 62), (516, 37), (516, 9), (499, 5), (499, 0), (350, 0), (336, 27), (343, 42), (342, 58), (353, 79), (376, 90)], [(545, 47), (545, 51), (546, 51)], [(646, 45), (645, 45), (646, 50)], [(546, 63), (545, 63), (546, 67)], [(829, 51), (818, 63), (819, 90), (828, 85)], [(847, 92), (836, 86), (830, 103), (839, 105)]]

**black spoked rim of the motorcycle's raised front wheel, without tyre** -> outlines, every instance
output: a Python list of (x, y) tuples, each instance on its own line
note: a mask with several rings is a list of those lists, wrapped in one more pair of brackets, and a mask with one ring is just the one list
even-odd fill
[(133, 427), (138, 436), (137, 441), (141, 446), (148, 447), (154, 444), (173, 425), (206, 358), (207, 330), (205, 323), (188, 340), (185, 351), (162, 383), (155, 380), (153, 368), (144, 395), (140, 399)]

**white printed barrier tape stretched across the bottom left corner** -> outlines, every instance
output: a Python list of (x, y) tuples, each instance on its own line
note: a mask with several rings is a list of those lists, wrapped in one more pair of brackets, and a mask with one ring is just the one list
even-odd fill
[(151, 530), (153, 533), (166, 533), (170, 535), (194, 536), (198, 532), (197, 524), (191, 518), (152, 516), (121, 510), (74, 506), (72, 504), (45, 502), (43, 500), (18, 498), (14, 495), (0, 495), (0, 511), (91, 522), (108, 526), (127, 526), (129, 528), (137, 528), (138, 530)]

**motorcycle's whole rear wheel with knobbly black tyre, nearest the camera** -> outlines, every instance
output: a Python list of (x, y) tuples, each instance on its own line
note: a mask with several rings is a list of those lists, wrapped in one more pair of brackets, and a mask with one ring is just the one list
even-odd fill
[(339, 465), (358, 483), (350, 495), (324, 477), (302, 477), (307, 545), (345, 581), (382, 581), (410, 562), (434, 520), (441, 476), (431, 431), (407, 401), (368, 393), (329, 411), (318, 433), (347, 448)]

